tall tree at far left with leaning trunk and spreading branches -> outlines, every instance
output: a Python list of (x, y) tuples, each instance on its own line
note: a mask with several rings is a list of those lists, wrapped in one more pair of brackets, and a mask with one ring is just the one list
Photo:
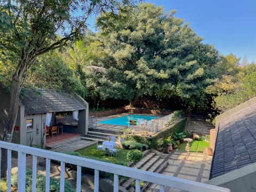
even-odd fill
[(121, 3), (130, 4), (126, 0), (1, 0), (0, 57), (1, 62), (11, 65), (14, 71), (10, 79), (10, 108), (0, 127), (1, 140), (13, 133), (22, 83), (37, 57), (81, 37), (90, 14), (110, 10), (114, 15)]

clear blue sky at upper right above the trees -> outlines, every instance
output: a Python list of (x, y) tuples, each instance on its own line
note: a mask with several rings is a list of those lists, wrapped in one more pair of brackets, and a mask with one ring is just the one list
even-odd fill
[(235, 54), (256, 62), (255, 0), (145, 0), (163, 6), (165, 12), (177, 10), (203, 42), (214, 45), (220, 54)]

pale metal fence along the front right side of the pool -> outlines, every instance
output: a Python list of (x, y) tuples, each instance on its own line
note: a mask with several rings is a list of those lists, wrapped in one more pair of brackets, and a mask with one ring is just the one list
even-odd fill
[(161, 131), (167, 122), (171, 120), (172, 116), (173, 114), (169, 114), (164, 117), (152, 119), (150, 121), (146, 121), (144, 119), (129, 119), (128, 127), (132, 130), (132, 132), (145, 132), (146, 135), (148, 132), (154, 133)]

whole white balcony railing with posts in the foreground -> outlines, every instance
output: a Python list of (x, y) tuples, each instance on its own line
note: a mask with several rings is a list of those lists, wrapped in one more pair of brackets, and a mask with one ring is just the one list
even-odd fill
[[(118, 192), (119, 181), (118, 175), (136, 179), (135, 191), (140, 191), (140, 181), (147, 181), (160, 185), (160, 191), (163, 192), (165, 187), (172, 187), (186, 191), (204, 191), (220, 192), (230, 191), (229, 189), (207, 185), (196, 181), (190, 181), (181, 178), (175, 178), (168, 175), (153, 173), (133, 169), (131, 167), (95, 161), (83, 157), (76, 157), (67, 154), (56, 153), (53, 151), (37, 149), (28, 146), (22, 146), (15, 143), (0, 141), (0, 148), (7, 149), (7, 173), (11, 172), (12, 151), (18, 152), (18, 191), (26, 191), (26, 154), (33, 155), (33, 191), (36, 191), (36, 174), (37, 174), (37, 157), (46, 158), (46, 181), (45, 191), (50, 190), (50, 167), (51, 160), (60, 161), (60, 191), (64, 191), (65, 182), (65, 163), (77, 166), (76, 191), (81, 191), (81, 169), (89, 167), (94, 169), (94, 191), (99, 191), (99, 171), (105, 171), (114, 174), (114, 191)], [(1, 154), (1, 153), (0, 153)], [(1, 171), (1, 170), (0, 170)], [(0, 172), (1, 173), (1, 172)], [(11, 174), (7, 174), (7, 189), (11, 191)]]

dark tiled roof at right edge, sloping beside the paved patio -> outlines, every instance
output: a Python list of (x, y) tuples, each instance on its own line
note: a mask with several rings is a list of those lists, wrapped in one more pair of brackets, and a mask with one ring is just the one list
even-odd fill
[(210, 179), (256, 162), (256, 103), (219, 124)]

